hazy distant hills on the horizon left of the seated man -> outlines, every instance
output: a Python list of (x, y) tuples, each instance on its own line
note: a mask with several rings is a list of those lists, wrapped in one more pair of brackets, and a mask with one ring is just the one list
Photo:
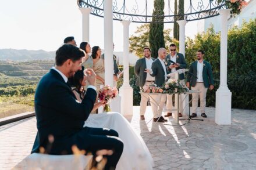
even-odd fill
[(0, 60), (29, 61), (54, 59), (55, 52), (47, 52), (45, 50), (0, 49)]

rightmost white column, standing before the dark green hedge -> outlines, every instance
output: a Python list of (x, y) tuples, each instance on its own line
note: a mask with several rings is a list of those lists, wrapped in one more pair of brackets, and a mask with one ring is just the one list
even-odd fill
[(231, 124), (231, 96), (227, 87), (227, 17), (230, 9), (219, 10), (221, 16), (221, 84), (216, 91), (215, 122), (218, 125)]

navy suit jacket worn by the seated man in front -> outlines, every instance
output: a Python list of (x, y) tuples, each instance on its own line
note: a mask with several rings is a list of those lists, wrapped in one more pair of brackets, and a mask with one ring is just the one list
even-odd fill
[[(77, 139), (77, 132), (83, 129), (96, 97), (96, 91), (88, 88), (83, 101), (79, 103), (56, 70), (51, 69), (44, 75), (35, 92), (38, 132), (31, 153), (38, 153), (40, 147), (44, 147), (49, 154), (72, 154), (72, 145), (79, 146), (79, 141), (82, 142)], [(54, 137), (54, 143), (49, 136)]]

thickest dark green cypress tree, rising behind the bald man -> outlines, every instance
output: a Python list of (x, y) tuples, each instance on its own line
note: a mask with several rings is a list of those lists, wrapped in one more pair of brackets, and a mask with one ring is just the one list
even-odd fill
[(149, 42), (151, 48), (151, 56), (155, 58), (158, 57), (158, 49), (161, 47), (165, 48), (165, 39), (163, 36), (164, 7), (164, 0), (154, 1), (152, 23), (150, 23)]

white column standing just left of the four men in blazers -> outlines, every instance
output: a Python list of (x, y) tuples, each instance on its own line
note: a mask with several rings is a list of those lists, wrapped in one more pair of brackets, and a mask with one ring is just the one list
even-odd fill
[(129, 84), (129, 25), (130, 21), (122, 20), (123, 24), (123, 85), (120, 88), (121, 114), (133, 115), (133, 88)]

